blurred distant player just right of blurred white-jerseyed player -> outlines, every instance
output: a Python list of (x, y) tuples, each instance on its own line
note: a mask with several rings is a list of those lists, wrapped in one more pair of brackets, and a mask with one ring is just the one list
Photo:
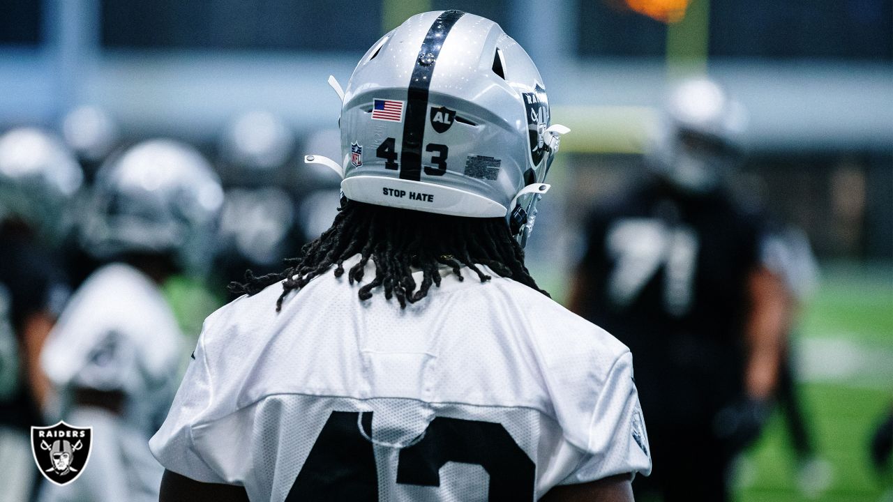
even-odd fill
[(283, 188), (284, 168), (295, 149), (295, 135), (274, 113), (239, 114), (223, 130), (218, 167), (226, 185), (220, 242), (214, 271), (222, 286), (279, 272), (282, 260), (304, 244), (293, 197)]

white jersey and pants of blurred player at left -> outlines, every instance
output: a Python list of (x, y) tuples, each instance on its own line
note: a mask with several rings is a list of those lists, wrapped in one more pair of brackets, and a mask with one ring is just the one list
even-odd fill
[[(187, 350), (171, 308), (146, 275), (125, 264), (90, 275), (47, 337), (41, 364), (60, 390), (61, 418), (94, 427), (93, 451), (78, 480), (47, 488), (41, 500), (158, 499), (163, 467), (146, 442), (170, 406)], [(71, 403), (74, 388), (121, 390), (124, 411)]]

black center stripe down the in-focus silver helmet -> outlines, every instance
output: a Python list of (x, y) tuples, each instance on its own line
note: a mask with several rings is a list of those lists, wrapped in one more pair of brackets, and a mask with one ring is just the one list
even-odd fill
[(444, 11), (434, 21), (425, 40), (421, 43), (419, 57), (415, 60), (413, 76), (409, 80), (406, 96), (406, 115), (403, 125), (403, 146), (400, 150), (400, 178), (421, 179), (421, 143), (425, 135), (425, 120), (428, 116), (428, 90), (431, 75), (437, 64), (440, 48), (447, 39), (455, 21), (464, 15), (462, 11)]

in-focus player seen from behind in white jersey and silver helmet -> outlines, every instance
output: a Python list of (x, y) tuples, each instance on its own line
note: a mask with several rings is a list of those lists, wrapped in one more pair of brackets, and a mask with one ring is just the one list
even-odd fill
[(211, 315), (150, 447), (162, 500), (631, 500), (629, 350), (518, 240), (558, 135), (493, 21), (421, 13), (341, 91), (330, 229)]

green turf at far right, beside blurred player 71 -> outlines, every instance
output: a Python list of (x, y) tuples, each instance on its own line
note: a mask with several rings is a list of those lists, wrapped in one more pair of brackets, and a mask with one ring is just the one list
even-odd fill
[(833, 373), (806, 375), (799, 385), (818, 456), (827, 461), (830, 475), (814, 476), (825, 482), (814, 482), (811, 489), (798, 488), (797, 463), (776, 414), (739, 466), (739, 501), (893, 502), (893, 471), (877, 472), (868, 456), (872, 431), (893, 401), (893, 380), (887, 378), (893, 358), (886, 356), (893, 354), (893, 267), (830, 264), (822, 272), (798, 341), (842, 342), (841, 347), (858, 347), (855, 354), (862, 355), (838, 379), (830, 378)]

